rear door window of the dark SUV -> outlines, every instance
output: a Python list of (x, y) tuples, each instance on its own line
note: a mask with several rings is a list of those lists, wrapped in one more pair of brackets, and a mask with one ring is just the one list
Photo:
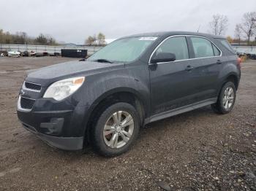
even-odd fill
[(195, 58), (214, 56), (214, 50), (208, 39), (200, 37), (190, 37), (195, 52)]

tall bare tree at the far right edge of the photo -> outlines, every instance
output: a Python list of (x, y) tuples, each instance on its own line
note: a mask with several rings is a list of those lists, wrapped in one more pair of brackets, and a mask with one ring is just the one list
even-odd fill
[(247, 44), (249, 44), (250, 38), (256, 33), (256, 12), (244, 13), (241, 30), (244, 31), (247, 39)]

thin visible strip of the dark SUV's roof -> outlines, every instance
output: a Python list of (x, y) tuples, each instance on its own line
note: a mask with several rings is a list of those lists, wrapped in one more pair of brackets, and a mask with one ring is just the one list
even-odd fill
[(189, 32), (189, 31), (163, 31), (163, 32), (134, 34), (134, 35), (125, 36), (125, 37), (132, 37), (132, 36), (173, 36), (173, 35), (195, 35), (195, 36), (211, 37), (211, 38), (214, 38), (214, 39), (226, 39), (224, 36), (217, 36), (217, 35), (214, 35), (214, 34), (205, 34), (205, 33), (196, 33), (196, 32)]

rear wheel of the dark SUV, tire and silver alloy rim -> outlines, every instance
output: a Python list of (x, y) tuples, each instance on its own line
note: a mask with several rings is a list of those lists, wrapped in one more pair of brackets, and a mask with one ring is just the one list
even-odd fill
[(211, 109), (218, 114), (231, 112), (236, 101), (236, 87), (233, 82), (226, 82), (219, 93), (216, 104), (211, 104)]

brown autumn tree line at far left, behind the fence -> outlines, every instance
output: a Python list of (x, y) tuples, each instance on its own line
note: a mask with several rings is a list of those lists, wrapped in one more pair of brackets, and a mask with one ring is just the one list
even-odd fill
[(36, 38), (30, 37), (26, 32), (4, 32), (0, 29), (0, 44), (40, 44), (40, 45), (58, 45), (55, 39), (50, 35), (39, 34)]

